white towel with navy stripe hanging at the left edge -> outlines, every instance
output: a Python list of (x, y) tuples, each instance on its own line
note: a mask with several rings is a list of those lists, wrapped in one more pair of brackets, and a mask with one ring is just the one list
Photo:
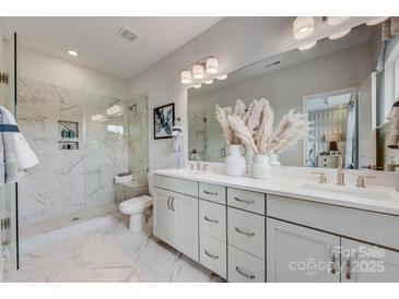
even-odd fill
[(12, 183), (19, 181), (26, 169), (39, 160), (19, 131), (13, 115), (2, 106), (0, 125), (3, 128), (0, 130), (0, 184)]

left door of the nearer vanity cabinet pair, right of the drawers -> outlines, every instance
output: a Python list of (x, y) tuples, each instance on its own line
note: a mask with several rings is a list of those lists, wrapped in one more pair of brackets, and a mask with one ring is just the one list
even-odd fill
[(267, 218), (267, 280), (339, 283), (340, 238)]

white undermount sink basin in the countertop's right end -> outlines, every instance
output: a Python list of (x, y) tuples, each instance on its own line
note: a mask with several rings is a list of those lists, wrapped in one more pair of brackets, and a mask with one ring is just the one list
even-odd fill
[(363, 200), (374, 201), (391, 201), (392, 196), (387, 191), (372, 190), (372, 189), (360, 189), (356, 187), (348, 186), (333, 186), (322, 183), (304, 183), (301, 186), (302, 189), (320, 191), (324, 193), (337, 194), (339, 196), (345, 195), (347, 198), (355, 198)]

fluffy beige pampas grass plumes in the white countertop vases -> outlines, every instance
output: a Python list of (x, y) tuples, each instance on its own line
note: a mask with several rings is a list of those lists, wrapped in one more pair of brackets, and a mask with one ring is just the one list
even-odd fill
[(219, 120), (227, 145), (244, 144), (257, 155), (281, 154), (298, 140), (308, 135), (310, 123), (306, 113), (291, 109), (274, 128), (274, 112), (267, 99), (254, 99), (246, 111), (237, 99), (234, 112), (216, 105)]

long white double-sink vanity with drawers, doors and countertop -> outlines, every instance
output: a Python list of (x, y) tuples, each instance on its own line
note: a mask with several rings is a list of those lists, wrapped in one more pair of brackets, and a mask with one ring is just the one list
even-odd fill
[(154, 236), (228, 282), (399, 282), (399, 193), (154, 171)]

